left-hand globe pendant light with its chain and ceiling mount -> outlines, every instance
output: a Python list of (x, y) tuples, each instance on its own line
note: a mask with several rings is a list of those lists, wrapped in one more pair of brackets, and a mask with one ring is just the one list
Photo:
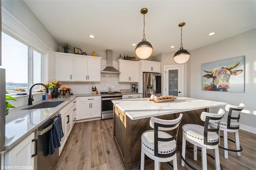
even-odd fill
[(135, 53), (140, 59), (146, 59), (150, 57), (153, 51), (152, 45), (150, 44), (150, 42), (146, 41), (145, 38), (145, 14), (147, 14), (147, 12), (147, 8), (142, 8), (140, 10), (140, 13), (144, 15), (143, 39), (138, 43), (138, 45), (135, 48)]

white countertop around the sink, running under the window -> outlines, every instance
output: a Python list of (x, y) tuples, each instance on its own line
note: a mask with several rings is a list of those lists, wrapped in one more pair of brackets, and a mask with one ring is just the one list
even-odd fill
[[(5, 125), (5, 147), (4, 150), (9, 150), (15, 147), (18, 143), (28, 137), (35, 129), (42, 125), (45, 121), (54, 116), (58, 111), (68, 105), (76, 97), (86, 96), (101, 96), (100, 94), (74, 94), (60, 95), (58, 98), (52, 98), (52, 101), (65, 101), (62, 104), (43, 109), (28, 109), (22, 110), (28, 105), (10, 109), (6, 116)], [(33, 102), (33, 105), (41, 102)]]

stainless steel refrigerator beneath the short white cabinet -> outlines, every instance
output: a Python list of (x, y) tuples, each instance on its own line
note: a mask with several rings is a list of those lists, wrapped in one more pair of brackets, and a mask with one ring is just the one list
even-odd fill
[(161, 74), (152, 72), (143, 72), (143, 98), (161, 96)]

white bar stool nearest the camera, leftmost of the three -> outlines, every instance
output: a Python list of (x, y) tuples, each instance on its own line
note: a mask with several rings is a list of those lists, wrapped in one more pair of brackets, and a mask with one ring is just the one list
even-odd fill
[[(144, 159), (146, 154), (149, 158), (154, 160), (154, 169), (160, 169), (160, 162), (167, 162), (173, 160), (173, 169), (177, 170), (176, 157), (176, 138), (178, 136), (178, 128), (181, 122), (182, 114), (177, 119), (164, 120), (156, 117), (150, 118), (150, 127), (154, 130), (146, 131), (141, 136), (141, 159), (140, 170), (144, 170)], [(176, 135), (172, 136), (164, 131), (171, 131), (176, 129)]]

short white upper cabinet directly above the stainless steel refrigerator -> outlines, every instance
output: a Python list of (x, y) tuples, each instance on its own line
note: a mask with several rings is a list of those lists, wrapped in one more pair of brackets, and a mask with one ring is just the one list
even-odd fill
[(139, 63), (142, 67), (142, 72), (161, 72), (160, 62), (140, 60)]

